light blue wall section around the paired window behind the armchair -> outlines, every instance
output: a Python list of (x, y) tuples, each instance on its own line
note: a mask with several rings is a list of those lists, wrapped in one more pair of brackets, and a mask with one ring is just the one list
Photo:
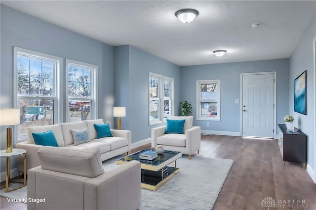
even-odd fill
[[(126, 117), (122, 118), (122, 129), (131, 131), (132, 143), (151, 138), (151, 128), (160, 126), (162, 123), (149, 125), (149, 72), (174, 79), (174, 112), (178, 113), (181, 92), (180, 67), (133, 46), (115, 47), (115, 57), (115, 77), (121, 77), (123, 73), (123, 77), (128, 75), (129, 80), (128, 90), (126, 90), (129, 94), (124, 96), (124, 99), (120, 99), (122, 96), (115, 90), (116, 106), (128, 104)], [(128, 65), (126, 60), (128, 60)], [(116, 87), (126, 86), (124, 79), (120, 81), (120, 78), (115, 78), (115, 81)], [(122, 101), (122, 105), (117, 104), (117, 101)]]

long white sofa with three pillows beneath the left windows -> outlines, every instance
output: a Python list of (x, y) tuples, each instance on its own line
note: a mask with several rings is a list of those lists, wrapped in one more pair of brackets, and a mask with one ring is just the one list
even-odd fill
[[(34, 142), (32, 133), (45, 132), (52, 130), (60, 149), (68, 150), (89, 150), (98, 148), (101, 153), (102, 161), (118, 156), (119, 154), (130, 151), (131, 133), (128, 130), (111, 129), (113, 137), (104, 137), (97, 139), (97, 133), (93, 124), (104, 124), (102, 119), (84, 120), (79, 122), (65, 122), (54, 125), (43, 125), (37, 127), (28, 127), (28, 140), (15, 145), (15, 148), (26, 150), (26, 166), (27, 170), (40, 165), (38, 151), (47, 146), (37, 145)], [(82, 143), (74, 146), (74, 140), (71, 129), (88, 128), (90, 142)], [(23, 173), (23, 157), (17, 158), (17, 171)]]

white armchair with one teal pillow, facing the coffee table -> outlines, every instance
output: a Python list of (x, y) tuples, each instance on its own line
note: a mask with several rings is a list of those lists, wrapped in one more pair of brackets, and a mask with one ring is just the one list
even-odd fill
[(186, 120), (184, 123), (184, 134), (165, 134), (166, 125), (152, 128), (152, 147), (156, 148), (158, 145), (161, 145), (164, 150), (181, 151), (182, 154), (188, 154), (189, 159), (191, 159), (191, 155), (196, 151), (199, 153), (201, 147), (201, 128), (192, 126), (193, 116), (170, 116), (168, 119)]

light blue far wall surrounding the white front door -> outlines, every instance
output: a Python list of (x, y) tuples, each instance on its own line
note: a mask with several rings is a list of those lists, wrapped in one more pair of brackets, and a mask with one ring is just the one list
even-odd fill
[[(181, 101), (193, 105), (194, 125), (201, 130), (240, 132), (240, 74), (276, 71), (276, 123), (288, 113), (288, 59), (258, 60), (181, 67)], [(221, 121), (196, 120), (196, 81), (221, 80)], [(206, 127), (209, 123), (209, 127)]]

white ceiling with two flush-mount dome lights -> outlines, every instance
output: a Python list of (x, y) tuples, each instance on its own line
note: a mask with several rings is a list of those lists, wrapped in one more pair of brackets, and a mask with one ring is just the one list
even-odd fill
[[(111, 46), (132, 45), (179, 66), (289, 58), (316, 1), (1, 0), (14, 9)], [(174, 13), (198, 10), (180, 22)], [(260, 23), (257, 28), (251, 24)], [(212, 51), (227, 50), (223, 57)]]

